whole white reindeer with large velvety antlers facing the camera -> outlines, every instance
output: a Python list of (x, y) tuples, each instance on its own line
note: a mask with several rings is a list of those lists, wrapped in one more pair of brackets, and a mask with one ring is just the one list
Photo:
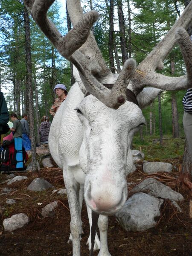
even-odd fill
[[(162, 90), (192, 87), (192, 42), (185, 31), (192, 20), (192, 1), (137, 70), (135, 61), (128, 59), (119, 76), (105, 66), (90, 32), (99, 16), (96, 11), (83, 15), (80, 0), (67, 0), (73, 29), (63, 37), (47, 18), (47, 10), (54, 0), (24, 2), (58, 52), (77, 68), (76, 83), (55, 114), (49, 133), (49, 148), (63, 169), (67, 189), (73, 256), (80, 256), (83, 189), (90, 225), (91, 209), (100, 214), (101, 244), (96, 236), (95, 249), (100, 248), (99, 256), (110, 256), (108, 215), (121, 209), (127, 199), (126, 175), (133, 165), (130, 144), (134, 132), (145, 123), (141, 108), (150, 104)], [(187, 75), (174, 78), (155, 73), (156, 69), (163, 68), (163, 61), (176, 42), (180, 45)], [(103, 84), (114, 85), (109, 90)], [(87, 91), (91, 95), (85, 97)], [(137, 98), (138, 105), (126, 101), (126, 92)], [(90, 249), (90, 237), (88, 244)]]

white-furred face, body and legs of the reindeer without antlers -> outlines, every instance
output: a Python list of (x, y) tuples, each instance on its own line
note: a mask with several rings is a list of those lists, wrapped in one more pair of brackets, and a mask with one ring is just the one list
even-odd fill
[[(111, 77), (111, 81), (114, 79)], [(81, 113), (77, 113), (77, 108)], [(126, 175), (133, 165), (131, 140), (144, 122), (141, 109), (134, 103), (126, 102), (113, 110), (92, 95), (84, 98), (77, 83), (55, 114), (49, 132), (49, 148), (53, 159), (63, 169), (71, 213), (73, 256), (80, 256), (80, 185), (84, 186), (90, 225), (90, 209), (101, 214), (99, 255), (110, 256), (107, 215), (115, 214), (127, 199)], [(95, 249), (98, 249), (98, 236), (95, 241)], [(87, 243), (90, 249), (90, 237)]]

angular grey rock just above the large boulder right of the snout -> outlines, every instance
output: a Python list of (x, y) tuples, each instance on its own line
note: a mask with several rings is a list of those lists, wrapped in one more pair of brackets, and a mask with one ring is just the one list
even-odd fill
[(147, 178), (135, 186), (130, 191), (131, 193), (147, 192), (149, 195), (154, 195), (160, 198), (166, 198), (174, 201), (183, 201), (183, 195), (175, 192), (168, 186), (160, 183), (154, 178)]

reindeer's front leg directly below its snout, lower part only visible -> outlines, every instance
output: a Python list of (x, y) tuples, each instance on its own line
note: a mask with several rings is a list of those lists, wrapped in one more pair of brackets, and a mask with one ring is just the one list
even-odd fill
[(101, 249), (98, 256), (111, 256), (108, 251), (108, 216), (99, 215), (98, 227), (101, 241)]

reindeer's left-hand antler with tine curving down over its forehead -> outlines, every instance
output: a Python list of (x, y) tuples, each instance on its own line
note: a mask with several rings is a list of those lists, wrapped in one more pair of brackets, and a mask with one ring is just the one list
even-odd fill
[[(120, 75), (121, 80), (123, 80), (122, 77), (124, 77), (124, 84), (122, 84), (122, 81), (120, 81), (119, 78), (118, 81), (120, 82), (116, 83), (116, 86), (109, 91), (92, 75), (93, 73), (96, 76), (101, 71), (102, 73), (105, 73), (105, 75), (111, 73), (105, 65), (93, 35), (90, 35), (90, 28), (99, 17), (98, 12), (90, 11), (83, 15), (81, 8), (79, 7), (79, 15), (81, 16), (80, 20), (78, 22), (75, 20), (73, 22), (75, 23), (73, 29), (71, 29), (67, 35), (63, 37), (60, 32), (58, 32), (55, 25), (47, 17), (47, 11), (54, 1), (55, 0), (24, 0), (24, 3), (35, 22), (38, 24), (47, 38), (49, 38), (52, 44), (54, 44), (58, 52), (71, 61), (79, 70), (81, 79), (83, 80), (86, 89), (91, 94), (96, 96), (96, 98), (102, 101), (106, 106), (115, 109), (118, 108), (126, 100), (125, 90), (128, 79), (130, 79), (134, 73), (133, 70), (135, 69), (135, 62), (132, 60), (127, 61), (127, 64)], [(79, 4), (79, 1), (71, 0), (68, 3), (74, 4), (74, 11), (74, 7)], [(72, 10), (69, 12), (69, 14), (71, 12)], [(85, 42), (86, 45), (82, 46)], [(81, 49), (78, 50), (80, 47)], [(89, 49), (90, 52), (87, 52), (87, 49)], [(85, 55), (86, 53), (89, 53), (89, 58), (87, 58)], [(130, 71), (130, 73), (125, 75), (125, 73), (128, 71)], [(120, 85), (120, 87), (117, 84)]]

